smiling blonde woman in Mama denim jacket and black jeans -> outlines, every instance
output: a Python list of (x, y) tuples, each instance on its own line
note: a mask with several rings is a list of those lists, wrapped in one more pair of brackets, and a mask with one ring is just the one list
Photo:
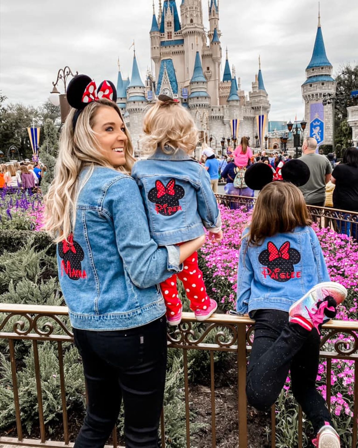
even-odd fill
[[(158, 248), (129, 173), (133, 148), (115, 104), (115, 86), (98, 89), (78, 75), (68, 114), (46, 229), (57, 243), (58, 271), (88, 392), (76, 448), (103, 448), (124, 401), (127, 448), (158, 448), (166, 374), (166, 321), (155, 287), (182, 269), (201, 237)], [(113, 99), (113, 101), (111, 101)]]

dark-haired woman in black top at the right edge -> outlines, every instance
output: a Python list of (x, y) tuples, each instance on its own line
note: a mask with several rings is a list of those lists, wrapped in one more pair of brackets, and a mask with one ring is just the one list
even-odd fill
[[(333, 207), (341, 210), (358, 212), (358, 149), (348, 148), (343, 156), (343, 163), (337, 165), (331, 177), (336, 185), (333, 191)], [(346, 214), (345, 218), (349, 219)], [(351, 231), (350, 231), (351, 230)], [(357, 224), (341, 221), (341, 233), (351, 235), (357, 240)]]

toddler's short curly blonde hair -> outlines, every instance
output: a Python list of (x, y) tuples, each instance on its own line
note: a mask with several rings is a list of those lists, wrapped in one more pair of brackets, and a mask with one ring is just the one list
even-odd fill
[(178, 148), (191, 154), (198, 142), (194, 120), (179, 103), (158, 100), (149, 106), (144, 116), (143, 132), (141, 145), (147, 155), (153, 154), (158, 147), (165, 154), (171, 154)]

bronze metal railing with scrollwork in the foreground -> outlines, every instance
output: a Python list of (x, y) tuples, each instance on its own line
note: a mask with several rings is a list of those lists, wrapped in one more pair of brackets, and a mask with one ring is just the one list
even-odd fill
[[(0, 339), (9, 342), (9, 358), (11, 363), (13, 400), (15, 409), (15, 419), (17, 428), (17, 437), (0, 437), (0, 444), (10, 444), (17, 446), (33, 446), (33, 447), (72, 447), (73, 440), (70, 441), (68, 430), (67, 415), (67, 397), (66, 384), (64, 375), (64, 343), (73, 342), (71, 329), (67, 326), (66, 320), (68, 309), (65, 306), (39, 306), (39, 305), (0, 305)], [(215, 413), (215, 380), (214, 380), (214, 352), (222, 351), (227, 353), (235, 353), (237, 359), (237, 415), (238, 415), (238, 435), (237, 442), (239, 448), (247, 448), (247, 402), (245, 395), (246, 386), (246, 366), (247, 354), (251, 349), (251, 336), (254, 327), (254, 321), (248, 317), (236, 317), (227, 314), (213, 314), (205, 323), (200, 325), (202, 328), (200, 336), (196, 337), (193, 331), (193, 323), (196, 322), (193, 313), (183, 313), (182, 323), (178, 329), (168, 335), (169, 348), (183, 350), (183, 371), (184, 371), (184, 396), (186, 411), (186, 446), (191, 447), (190, 440), (190, 403), (189, 403), (189, 381), (188, 381), (188, 350), (209, 350), (210, 352), (210, 395), (211, 395), (211, 446), (216, 447), (216, 413)], [(331, 406), (331, 377), (332, 377), (332, 360), (350, 360), (354, 362), (354, 396), (358, 396), (358, 322), (357, 321), (337, 321), (332, 320), (324, 325), (327, 334), (321, 341), (320, 357), (327, 361), (327, 403), (328, 408)], [(196, 329), (197, 331), (197, 329)], [(341, 339), (342, 335), (350, 337), (351, 343), (347, 349), (346, 340)], [(207, 337), (214, 335), (214, 343), (208, 343)], [(333, 351), (328, 351), (327, 341), (333, 336), (337, 337)], [(16, 340), (28, 340), (32, 343), (34, 351), (34, 375), (37, 388), (38, 401), (38, 419), (40, 439), (25, 439), (23, 437), (21, 422), (21, 405), (19, 401), (19, 391), (17, 386), (18, 362), (16, 359)], [(213, 340), (212, 338), (210, 340)], [(60, 388), (63, 416), (63, 440), (53, 441), (46, 437), (45, 422), (43, 416), (43, 396), (40, 375), (40, 359), (38, 356), (39, 344), (43, 341), (50, 341), (57, 345), (59, 372), (60, 372)], [(275, 444), (275, 408), (271, 412), (272, 416), (272, 442)], [(353, 416), (351, 419), (351, 427), (353, 431), (352, 445), (357, 445), (357, 418), (358, 418), (358, 400), (354, 401)], [(165, 413), (162, 415), (162, 448), (166, 447), (165, 441)], [(117, 434), (113, 431), (113, 444), (117, 447)], [(303, 421), (302, 411), (299, 409), (298, 422), (298, 447), (303, 447)], [(108, 446), (108, 448), (110, 448)], [(350, 447), (346, 447), (350, 448)]]

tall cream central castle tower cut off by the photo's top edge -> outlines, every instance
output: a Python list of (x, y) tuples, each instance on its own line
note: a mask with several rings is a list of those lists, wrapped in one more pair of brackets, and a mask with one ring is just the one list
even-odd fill
[(201, 0), (183, 0), (180, 13), (184, 39), (185, 81), (183, 87), (188, 87), (194, 71), (196, 52), (202, 55), (202, 49), (206, 43)]

